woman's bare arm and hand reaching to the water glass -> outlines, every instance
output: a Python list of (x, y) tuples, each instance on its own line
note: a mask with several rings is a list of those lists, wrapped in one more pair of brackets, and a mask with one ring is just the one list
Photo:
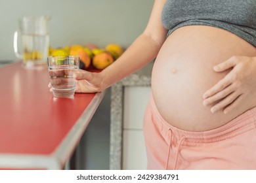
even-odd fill
[[(161, 23), (161, 10), (165, 2), (166, 0), (154, 2), (146, 28), (112, 65), (101, 73), (89, 73), (88, 71), (79, 70), (75, 74), (75, 78), (78, 81), (76, 92), (102, 92), (156, 58), (167, 34), (167, 29)], [(51, 88), (51, 84), (49, 84), (49, 88)]]

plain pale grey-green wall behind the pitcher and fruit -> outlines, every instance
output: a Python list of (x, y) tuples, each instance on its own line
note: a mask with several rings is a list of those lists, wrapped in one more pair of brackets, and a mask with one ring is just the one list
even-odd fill
[(16, 59), (18, 18), (51, 15), (53, 47), (117, 42), (127, 47), (143, 31), (154, 0), (0, 0), (0, 61)]

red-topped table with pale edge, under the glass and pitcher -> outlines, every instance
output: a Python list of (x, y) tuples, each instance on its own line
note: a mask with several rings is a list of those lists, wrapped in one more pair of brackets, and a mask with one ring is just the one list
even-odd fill
[(0, 169), (63, 169), (102, 93), (49, 92), (47, 69), (0, 68)]

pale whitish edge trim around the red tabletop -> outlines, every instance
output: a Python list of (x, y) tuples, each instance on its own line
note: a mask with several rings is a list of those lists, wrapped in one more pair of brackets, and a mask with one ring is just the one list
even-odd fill
[[(7, 169), (63, 169), (66, 161), (72, 156), (79, 139), (83, 135), (106, 91), (96, 93), (88, 107), (83, 111), (74, 127), (49, 156), (41, 154), (1, 154), (0, 167)], [(26, 166), (24, 166), (26, 164)]]

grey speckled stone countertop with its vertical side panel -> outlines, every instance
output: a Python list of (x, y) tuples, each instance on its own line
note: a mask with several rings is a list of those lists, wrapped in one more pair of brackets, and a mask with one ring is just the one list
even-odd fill
[(111, 88), (110, 118), (110, 169), (121, 169), (123, 130), (123, 88), (127, 86), (150, 86), (154, 62), (117, 82)]

